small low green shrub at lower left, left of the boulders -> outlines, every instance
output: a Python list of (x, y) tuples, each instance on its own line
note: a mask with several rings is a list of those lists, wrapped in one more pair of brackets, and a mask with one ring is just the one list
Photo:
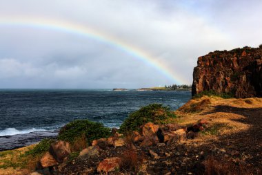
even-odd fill
[(28, 155), (37, 156), (37, 155), (44, 154), (46, 153), (46, 151), (48, 151), (52, 142), (54, 142), (54, 139), (45, 138), (41, 140), (41, 142), (39, 142), (39, 144), (37, 144), (33, 149), (26, 151), (25, 154), (23, 154), (23, 156), (28, 156)]

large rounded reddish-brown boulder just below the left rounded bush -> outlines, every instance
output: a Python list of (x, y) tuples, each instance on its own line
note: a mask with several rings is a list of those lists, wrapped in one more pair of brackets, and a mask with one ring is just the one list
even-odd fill
[(58, 140), (53, 142), (49, 148), (50, 154), (57, 160), (58, 163), (62, 163), (65, 158), (71, 153), (69, 142)]

